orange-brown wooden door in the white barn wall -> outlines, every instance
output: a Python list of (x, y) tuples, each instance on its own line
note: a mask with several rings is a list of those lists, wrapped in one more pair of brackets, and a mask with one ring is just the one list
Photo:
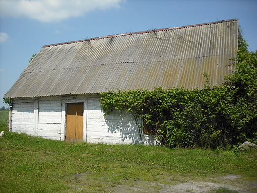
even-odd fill
[(65, 141), (83, 140), (83, 103), (67, 104)]

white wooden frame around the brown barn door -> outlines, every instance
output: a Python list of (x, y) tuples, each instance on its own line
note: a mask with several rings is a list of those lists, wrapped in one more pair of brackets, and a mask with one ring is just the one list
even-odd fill
[(65, 141), (65, 136), (66, 136), (66, 112), (67, 112), (67, 104), (68, 103), (83, 103), (83, 141), (86, 141), (87, 99), (62, 100), (61, 141)]

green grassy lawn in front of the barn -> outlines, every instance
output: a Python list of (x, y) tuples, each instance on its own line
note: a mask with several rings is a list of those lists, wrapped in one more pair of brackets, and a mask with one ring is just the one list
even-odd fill
[[(67, 143), (7, 131), (0, 111), (0, 193), (161, 192), (179, 183), (257, 182), (257, 150)], [(121, 190), (122, 187), (122, 190)], [(249, 192), (257, 192), (250, 188)], [(212, 192), (237, 193), (227, 188)], [(229, 192), (230, 191), (230, 192)], [(185, 192), (193, 193), (187, 189)]]

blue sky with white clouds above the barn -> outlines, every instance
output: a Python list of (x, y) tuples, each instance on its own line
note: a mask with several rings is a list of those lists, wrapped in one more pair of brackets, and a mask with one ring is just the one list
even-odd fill
[(235, 18), (257, 50), (257, 0), (0, 0), (0, 107), (44, 45)]

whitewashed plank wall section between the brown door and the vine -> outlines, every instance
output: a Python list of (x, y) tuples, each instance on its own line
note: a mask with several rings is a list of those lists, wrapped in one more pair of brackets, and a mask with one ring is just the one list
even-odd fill
[(128, 112), (114, 111), (104, 116), (99, 98), (87, 102), (87, 142), (154, 145), (149, 135), (139, 135), (138, 126)]

